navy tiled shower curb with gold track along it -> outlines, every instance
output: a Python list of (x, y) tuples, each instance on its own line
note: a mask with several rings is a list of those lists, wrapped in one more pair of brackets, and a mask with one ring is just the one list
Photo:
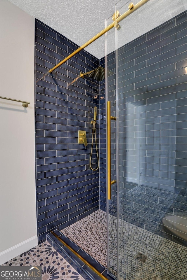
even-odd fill
[[(103, 276), (108, 280), (114, 280), (111, 276), (107, 275), (106, 268), (103, 267), (96, 260), (91, 258), (86, 252), (84, 252), (79, 246), (67, 238), (59, 230), (54, 230), (58, 237), (62, 239), (67, 245), (69, 245), (75, 252), (77, 252), (82, 258), (89, 262), (95, 269), (97, 269)], [(92, 269), (90, 269), (82, 260), (80, 260), (70, 249), (68, 249), (62, 242), (60, 242), (52, 233), (46, 235), (47, 241), (51, 244), (55, 250), (60, 253), (60, 255), (65, 258), (67, 262), (74, 267), (77, 272), (84, 271), (87, 274), (88, 278), (86, 280), (101, 280), (101, 277), (98, 276)]]

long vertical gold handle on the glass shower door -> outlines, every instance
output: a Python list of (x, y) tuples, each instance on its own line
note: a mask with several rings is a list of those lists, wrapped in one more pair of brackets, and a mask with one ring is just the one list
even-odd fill
[(107, 190), (108, 199), (111, 199), (111, 185), (115, 184), (116, 181), (111, 181), (111, 128), (110, 120), (116, 120), (116, 117), (110, 115), (110, 101), (107, 101)]

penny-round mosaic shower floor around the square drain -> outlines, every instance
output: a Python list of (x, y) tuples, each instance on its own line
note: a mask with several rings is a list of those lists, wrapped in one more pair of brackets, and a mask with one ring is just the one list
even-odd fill
[[(186, 280), (187, 248), (154, 233), (119, 222), (119, 280)], [(109, 271), (117, 273), (117, 219), (109, 215)], [(107, 264), (106, 213), (97, 210), (77, 223), (61, 230), (104, 267)], [(145, 263), (135, 259), (140, 252), (148, 258)]]

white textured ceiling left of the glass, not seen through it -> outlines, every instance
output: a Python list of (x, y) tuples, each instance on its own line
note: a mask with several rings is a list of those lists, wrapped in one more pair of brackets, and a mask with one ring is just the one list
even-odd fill
[[(114, 13), (116, 0), (10, 0), (10, 2), (81, 46), (104, 29), (105, 18)], [(86, 50), (98, 58), (103, 57), (104, 36)]]

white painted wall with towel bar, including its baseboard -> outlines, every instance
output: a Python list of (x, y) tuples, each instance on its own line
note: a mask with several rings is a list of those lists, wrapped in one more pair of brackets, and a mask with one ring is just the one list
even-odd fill
[(0, 265), (37, 245), (34, 17), (0, 1)]

